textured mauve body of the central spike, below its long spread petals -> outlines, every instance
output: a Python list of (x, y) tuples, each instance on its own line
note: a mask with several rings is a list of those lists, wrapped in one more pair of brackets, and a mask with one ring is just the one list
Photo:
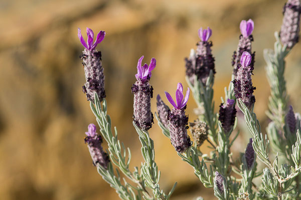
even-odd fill
[(191, 140), (187, 134), (188, 116), (185, 115), (185, 107), (182, 109), (174, 107), (168, 112), (167, 118), (171, 142), (176, 151), (183, 153), (191, 146)]

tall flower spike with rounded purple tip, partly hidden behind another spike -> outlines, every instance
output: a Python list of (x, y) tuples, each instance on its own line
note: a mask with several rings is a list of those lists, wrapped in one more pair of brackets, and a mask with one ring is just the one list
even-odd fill
[(254, 69), (254, 61), (255, 61), (255, 52), (251, 52), (252, 51), (252, 41), (253, 41), (253, 36), (252, 36), (252, 32), (254, 29), (254, 22), (252, 19), (249, 20), (242, 20), (240, 22), (240, 32), (241, 35), (239, 36), (239, 42), (238, 42), (238, 46), (237, 46), (237, 50), (234, 51), (234, 54), (232, 56), (232, 66), (233, 68), (233, 74), (234, 77), (236, 78), (237, 75), (237, 65), (240, 63), (240, 57), (243, 53), (243, 51), (247, 51), (251, 54), (252, 56), (252, 62), (250, 63), (250, 69), (251, 72)]

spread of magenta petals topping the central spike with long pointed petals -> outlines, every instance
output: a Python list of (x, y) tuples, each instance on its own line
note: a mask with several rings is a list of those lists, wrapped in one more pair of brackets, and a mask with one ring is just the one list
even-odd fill
[(177, 86), (177, 90), (176, 90), (176, 102), (174, 101), (174, 99), (172, 98), (172, 96), (166, 91), (165, 95), (168, 99), (168, 101), (170, 101), (170, 103), (177, 109), (182, 109), (183, 107), (185, 107), (188, 98), (189, 98), (189, 93), (190, 93), (190, 89), (189, 87), (187, 88), (186, 91), (186, 96), (184, 98), (184, 94), (183, 94), (183, 85), (181, 82), (178, 83)]

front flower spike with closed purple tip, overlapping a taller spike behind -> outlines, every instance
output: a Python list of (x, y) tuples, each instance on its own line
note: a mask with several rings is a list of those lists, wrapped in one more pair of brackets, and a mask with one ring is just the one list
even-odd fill
[(253, 92), (256, 87), (252, 85), (250, 65), (245, 66), (245, 64), (250, 63), (248, 60), (251, 59), (251, 55), (246, 51), (244, 51), (243, 54), (245, 57), (242, 59), (243, 62), (238, 65), (237, 77), (232, 82), (235, 97), (240, 98), (248, 108), (251, 108), (255, 102)]

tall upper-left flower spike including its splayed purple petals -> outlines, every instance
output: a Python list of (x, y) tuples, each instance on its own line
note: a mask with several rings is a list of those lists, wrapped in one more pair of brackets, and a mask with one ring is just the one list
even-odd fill
[(97, 93), (100, 100), (104, 98), (104, 74), (101, 65), (101, 52), (95, 50), (98, 43), (100, 43), (105, 36), (104, 31), (99, 31), (96, 40), (93, 43), (94, 33), (90, 28), (87, 28), (87, 42), (84, 40), (80, 28), (78, 28), (78, 38), (85, 47), (81, 58), (85, 70), (86, 83), (83, 86), (83, 92), (86, 93), (87, 99), (94, 101), (94, 92)]

